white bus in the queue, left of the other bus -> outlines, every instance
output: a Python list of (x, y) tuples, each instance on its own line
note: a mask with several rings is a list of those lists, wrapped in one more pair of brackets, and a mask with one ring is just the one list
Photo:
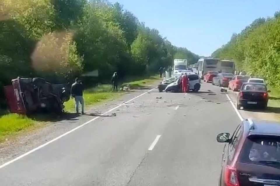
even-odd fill
[(199, 77), (202, 79), (204, 74), (208, 71), (219, 71), (220, 70), (220, 59), (217, 58), (201, 58), (197, 61), (197, 71)]

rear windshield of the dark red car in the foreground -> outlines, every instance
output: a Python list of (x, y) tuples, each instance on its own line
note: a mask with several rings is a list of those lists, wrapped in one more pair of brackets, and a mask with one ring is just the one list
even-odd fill
[(280, 136), (249, 136), (241, 150), (239, 162), (264, 164), (280, 161)]

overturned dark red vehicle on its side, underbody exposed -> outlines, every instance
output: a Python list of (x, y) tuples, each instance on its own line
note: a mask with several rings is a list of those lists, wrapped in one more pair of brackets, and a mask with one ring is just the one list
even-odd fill
[(64, 102), (70, 99), (70, 84), (51, 84), (44, 78), (21, 78), (12, 80), (5, 87), (10, 112), (31, 114), (34, 112), (64, 112)]

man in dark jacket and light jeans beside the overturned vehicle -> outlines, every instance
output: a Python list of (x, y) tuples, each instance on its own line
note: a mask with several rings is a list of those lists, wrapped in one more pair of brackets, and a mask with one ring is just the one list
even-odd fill
[(76, 77), (75, 83), (71, 86), (71, 96), (75, 99), (75, 109), (77, 114), (79, 113), (79, 103), (81, 103), (82, 114), (84, 114), (83, 90), (82, 82)]

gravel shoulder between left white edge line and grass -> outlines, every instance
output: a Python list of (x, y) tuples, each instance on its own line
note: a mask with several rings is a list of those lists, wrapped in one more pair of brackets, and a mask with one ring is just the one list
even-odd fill
[[(0, 164), (3, 164), (8, 160), (26, 153), (29, 150), (36, 148), (37, 146), (40, 146), (41, 144), (44, 144), (77, 126), (82, 125), (83, 123), (95, 118), (97, 115), (100, 115), (154, 87), (155, 86), (153, 85), (147, 86), (142, 90), (133, 90), (125, 93), (115, 100), (95, 105), (87, 110), (86, 115), (70, 117), (69, 119), (57, 122), (49, 122), (47, 125), (44, 125), (44, 127), (39, 129), (36, 128), (35, 130), (31, 130), (27, 133), (8, 139), (0, 144)], [(103, 118), (101, 119), (103, 120)]]

